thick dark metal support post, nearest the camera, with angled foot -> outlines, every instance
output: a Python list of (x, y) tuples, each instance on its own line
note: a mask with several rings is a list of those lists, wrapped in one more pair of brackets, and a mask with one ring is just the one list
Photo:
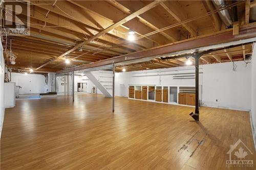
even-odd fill
[(196, 108), (195, 113), (191, 112), (189, 115), (192, 116), (196, 121), (199, 121), (199, 59), (202, 55), (196, 53), (195, 58), (195, 67), (196, 67)]

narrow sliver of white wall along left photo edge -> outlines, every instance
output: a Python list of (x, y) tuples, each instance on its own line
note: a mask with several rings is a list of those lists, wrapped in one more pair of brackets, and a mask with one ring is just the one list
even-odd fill
[(4, 78), (5, 78), (5, 60), (3, 56), (2, 41), (0, 41), (0, 138), (5, 117), (4, 105)]

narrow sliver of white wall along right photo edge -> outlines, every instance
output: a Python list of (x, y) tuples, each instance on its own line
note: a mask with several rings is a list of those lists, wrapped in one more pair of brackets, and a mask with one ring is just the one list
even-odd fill
[(254, 144), (256, 148), (256, 45), (253, 45), (251, 58), (251, 124)]

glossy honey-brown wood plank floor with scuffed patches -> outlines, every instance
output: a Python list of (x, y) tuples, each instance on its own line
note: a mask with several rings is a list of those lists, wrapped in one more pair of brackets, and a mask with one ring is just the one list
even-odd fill
[[(6, 109), (1, 169), (253, 169), (226, 167), (230, 144), (253, 152), (248, 112), (101, 95), (19, 100)], [(256, 165), (255, 165), (256, 166)]]

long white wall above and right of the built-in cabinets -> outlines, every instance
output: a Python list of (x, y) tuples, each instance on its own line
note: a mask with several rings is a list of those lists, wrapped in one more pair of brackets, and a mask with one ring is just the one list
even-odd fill
[[(201, 65), (199, 71), (199, 84), (202, 85), (202, 102), (205, 106), (221, 107), (237, 110), (250, 110), (251, 108), (251, 65), (245, 67), (243, 61), (235, 62), (237, 71), (233, 71), (232, 62)], [(195, 79), (173, 79), (173, 76), (149, 76), (161, 74), (175, 74), (195, 72), (194, 66), (174, 67), (168, 69), (154, 69), (116, 74), (115, 94), (120, 93), (120, 84), (128, 89), (133, 85), (161, 85), (161, 86), (195, 86)], [(144, 77), (133, 77), (133, 76)], [(128, 96), (127, 91), (125, 96)], [(218, 100), (218, 102), (216, 102)]]

